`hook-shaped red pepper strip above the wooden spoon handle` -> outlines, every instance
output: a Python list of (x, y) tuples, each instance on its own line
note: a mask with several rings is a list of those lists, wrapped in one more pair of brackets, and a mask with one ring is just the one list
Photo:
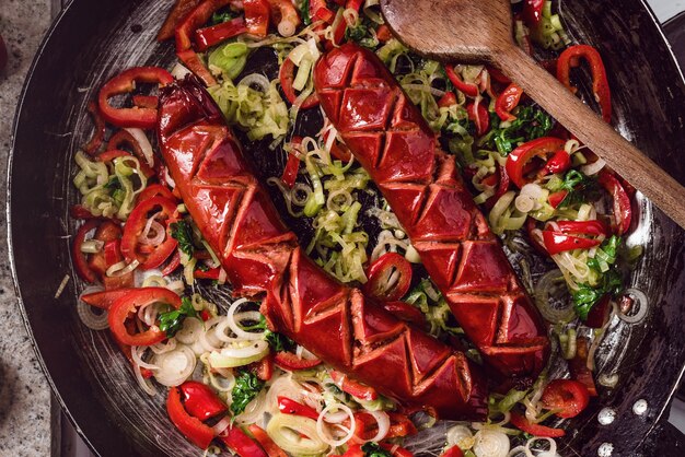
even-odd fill
[(569, 46), (561, 52), (557, 62), (557, 79), (564, 83), (571, 92), (578, 92), (578, 87), (571, 85), (571, 68), (580, 66), (580, 59), (585, 59), (592, 72), (592, 92), (594, 98), (602, 109), (602, 119), (609, 124), (612, 121), (612, 93), (608, 87), (606, 69), (600, 52), (588, 45)]

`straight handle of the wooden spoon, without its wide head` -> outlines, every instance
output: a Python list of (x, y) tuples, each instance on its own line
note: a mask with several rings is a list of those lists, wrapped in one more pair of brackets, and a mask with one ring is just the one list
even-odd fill
[(499, 69), (595, 154), (685, 228), (685, 188), (604, 122), (515, 46), (492, 58)]

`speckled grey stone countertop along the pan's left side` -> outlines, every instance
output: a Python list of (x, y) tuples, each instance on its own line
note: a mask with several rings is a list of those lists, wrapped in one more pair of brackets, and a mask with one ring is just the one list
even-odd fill
[(9, 61), (0, 72), (0, 455), (48, 456), (50, 389), (19, 314), (7, 248), (7, 159), (14, 110), (33, 57), (50, 24), (50, 0), (0, 0)]

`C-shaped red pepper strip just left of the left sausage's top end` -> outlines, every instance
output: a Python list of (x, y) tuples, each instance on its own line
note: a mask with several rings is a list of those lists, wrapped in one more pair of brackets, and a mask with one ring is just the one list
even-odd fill
[(102, 117), (117, 127), (139, 127), (151, 129), (156, 124), (156, 109), (152, 108), (115, 108), (109, 98), (132, 92), (137, 82), (171, 84), (174, 77), (159, 67), (135, 67), (114, 77), (105, 83), (97, 95)]

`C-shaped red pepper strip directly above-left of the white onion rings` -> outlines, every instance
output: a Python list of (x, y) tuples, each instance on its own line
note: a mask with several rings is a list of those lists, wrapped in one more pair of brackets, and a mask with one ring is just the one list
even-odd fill
[(117, 298), (109, 307), (107, 316), (114, 338), (129, 345), (152, 345), (164, 341), (166, 333), (156, 326), (135, 335), (129, 333), (126, 328), (129, 314), (137, 313), (141, 306), (160, 302), (176, 309), (181, 307), (181, 297), (164, 288), (139, 288)]

